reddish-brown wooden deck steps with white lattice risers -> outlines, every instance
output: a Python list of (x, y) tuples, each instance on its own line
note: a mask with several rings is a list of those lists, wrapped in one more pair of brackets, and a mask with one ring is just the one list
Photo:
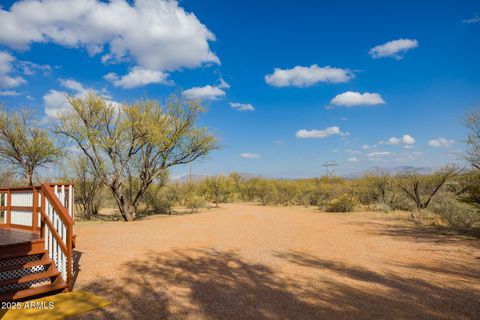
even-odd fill
[(31, 299), (67, 289), (41, 239), (2, 247), (0, 302)]

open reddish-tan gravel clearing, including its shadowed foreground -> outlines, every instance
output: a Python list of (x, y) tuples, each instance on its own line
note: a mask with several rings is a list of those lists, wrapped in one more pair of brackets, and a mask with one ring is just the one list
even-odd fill
[(85, 319), (480, 319), (480, 241), (389, 214), (228, 204), (80, 222)]

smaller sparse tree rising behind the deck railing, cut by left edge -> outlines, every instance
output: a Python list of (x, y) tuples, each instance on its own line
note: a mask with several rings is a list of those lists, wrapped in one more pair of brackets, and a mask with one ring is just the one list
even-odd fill
[(14, 112), (0, 108), (0, 159), (33, 185), (40, 167), (57, 161), (62, 153), (48, 131), (39, 127), (28, 111)]

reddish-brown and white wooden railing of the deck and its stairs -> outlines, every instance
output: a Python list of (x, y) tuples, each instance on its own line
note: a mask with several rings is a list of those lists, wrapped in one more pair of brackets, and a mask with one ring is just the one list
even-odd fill
[[(73, 186), (42, 184), (0, 189), (3, 227), (39, 231), (48, 256), (72, 288), (73, 273)], [(2, 224), (0, 224), (2, 226)]]

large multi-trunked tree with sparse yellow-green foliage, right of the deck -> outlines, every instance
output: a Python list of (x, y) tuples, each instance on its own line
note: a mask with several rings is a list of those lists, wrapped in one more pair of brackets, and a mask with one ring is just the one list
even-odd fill
[(115, 105), (90, 92), (69, 102), (56, 131), (87, 156), (125, 221), (135, 219), (142, 195), (166, 170), (217, 147), (213, 135), (196, 127), (204, 111), (199, 101), (172, 96), (165, 106), (151, 100)]

